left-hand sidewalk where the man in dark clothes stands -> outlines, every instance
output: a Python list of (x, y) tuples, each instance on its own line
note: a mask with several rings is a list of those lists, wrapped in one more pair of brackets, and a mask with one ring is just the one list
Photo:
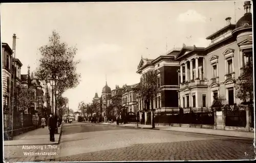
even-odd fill
[(12, 141), (4, 141), (4, 146), (17, 146), (17, 145), (51, 145), (58, 144), (60, 137), (61, 126), (58, 127), (58, 133), (54, 134), (55, 142), (50, 141), (49, 129), (38, 128), (23, 134), (13, 137)]

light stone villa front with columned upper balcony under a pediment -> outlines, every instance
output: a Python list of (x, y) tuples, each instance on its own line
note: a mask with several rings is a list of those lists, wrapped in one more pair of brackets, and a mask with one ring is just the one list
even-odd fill
[[(176, 61), (180, 62), (179, 78), (179, 106), (189, 107), (196, 111), (206, 107), (207, 80), (205, 78), (204, 47), (186, 46), (178, 53)], [(201, 109), (200, 109), (201, 110)]]

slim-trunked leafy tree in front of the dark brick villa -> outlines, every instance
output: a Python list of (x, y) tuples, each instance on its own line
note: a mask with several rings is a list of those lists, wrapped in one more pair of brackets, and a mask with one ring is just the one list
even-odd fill
[(137, 92), (139, 94), (139, 97), (143, 101), (145, 101), (146, 110), (150, 110), (150, 103), (152, 103), (151, 105), (152, 128), (155, 128), (153, 101), (154, 101), (154, 98), (157, 96), (157, 93), (159, 92), (158, 86), (157, 86), (157, 74), (155, 71), (148, 71), (142, 75), (141, 87)]

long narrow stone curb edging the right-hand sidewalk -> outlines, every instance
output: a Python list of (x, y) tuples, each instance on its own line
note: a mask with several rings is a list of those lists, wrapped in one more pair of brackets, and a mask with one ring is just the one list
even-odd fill
[(212, 135), (212, 136), (217, 136), (217, 137), (229, 137), (229, 138), (240, 138), (240, 139), (254, 139), (254, 138), (248, 138), (248, 137), (239, 137), (239, 136), (231, 136), (231, 135), (212, 134), (212, 133), (199, 133), (199, 132), (165, 130), (165, 129), (161, 129), (161, 128), (143, 128), (143, 127), (137, 127), (137, 126), (120, 126), (120, 127), (140, 128), (140, 129), (153, 129), (153, 130), (163, 130), (163, 131), (172, 131), (172, 132), (183, 132), (183, 133), (191, 133), (191, 134)]

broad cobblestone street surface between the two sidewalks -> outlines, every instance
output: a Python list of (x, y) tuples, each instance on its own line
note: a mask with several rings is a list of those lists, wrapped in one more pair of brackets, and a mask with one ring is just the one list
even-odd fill
[(252, 140), (103, 125), (63, 128), (60, 148), (59, 161), (254, 158)]

